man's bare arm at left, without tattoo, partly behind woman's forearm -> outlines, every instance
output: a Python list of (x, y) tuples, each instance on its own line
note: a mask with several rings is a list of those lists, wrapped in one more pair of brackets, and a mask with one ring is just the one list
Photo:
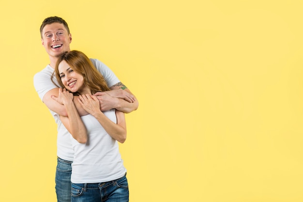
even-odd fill
[[(64, 105), (58, 102), (59, 101), (58, 96), (59, 96), (59, 87), (53, 88), (49, 90), (47, 93), (45, 93), (43, 97), (43, 102), (45, 103), (47, 108), (50, 109), (51, 111), (56, 112), (61, 116), (68, 116)], [(83, 109), (83, 107), (80, 105), (77, 99), (74, 99), (74, 103), (80, 116), (88, 115), (88, 113)]]

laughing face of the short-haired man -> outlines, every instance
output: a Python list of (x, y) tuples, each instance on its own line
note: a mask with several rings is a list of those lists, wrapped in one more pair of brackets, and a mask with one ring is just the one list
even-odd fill
[(63, 24), (52, 23), (43, 28), (41, 41), (50, 57), (58, 57), (61, 53), (70, 51), (72, 35), (67, 33)]

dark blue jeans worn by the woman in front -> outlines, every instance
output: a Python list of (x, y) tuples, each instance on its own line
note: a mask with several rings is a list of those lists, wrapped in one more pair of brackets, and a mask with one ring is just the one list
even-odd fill
[(72, 183), (72, 202), (128, 202), (126, 175), (104, 183)]

